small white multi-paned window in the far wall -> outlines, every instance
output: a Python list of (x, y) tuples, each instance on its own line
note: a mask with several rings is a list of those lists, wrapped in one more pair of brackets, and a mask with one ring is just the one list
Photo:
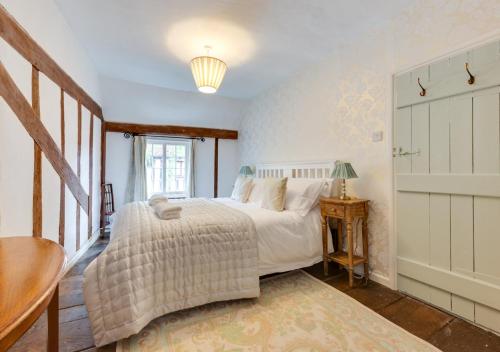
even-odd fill
[(190, 196), (191, 141), (148, 139), (146, 178), (148, 197), (167, 193), (172, 198)]

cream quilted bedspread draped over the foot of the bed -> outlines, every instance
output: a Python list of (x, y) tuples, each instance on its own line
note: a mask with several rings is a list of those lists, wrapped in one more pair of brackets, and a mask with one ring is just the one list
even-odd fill
[(166, 313), (259, 296), (257, 235), (244, 213), (207, 199), (160, 220), (146, 202), (117, 214), (106, 249), (84, 272), (95, 344), (138, 333)]

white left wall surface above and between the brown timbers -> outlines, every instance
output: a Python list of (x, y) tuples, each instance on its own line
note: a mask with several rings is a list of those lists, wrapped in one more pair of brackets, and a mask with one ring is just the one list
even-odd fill
[[(96, 101), (99, 101), (98, 77), (85, 51), (79, 46), (70, 27), (52, 0), (0, 0), (14, 18), (49, 55)], [(31, 101), (31, 64), (0, 40), (0, 58), (8, 72)], [(60, 90), (40, 75), (41, 119), (60, 146)], [(77, 103), (65, 96), (66, 159), (76, 170)], [(94, 125), (93, 229), (99, 227), (99, 155), (100, 123)], [(82, 185), (88, 192), (90, 113), (82, 114)], [(59, 177), (42, 158), (43, 236), (58, 241)], [(5, 102), (0, 100), (0, 237), (31, 235), (33, 191), (33, 141)], [(66, 242), (71, 257), (76, 251), (76, 201), (66, 189)], [(82, 211), (81, 241), (87, 241), (87, 216)]]

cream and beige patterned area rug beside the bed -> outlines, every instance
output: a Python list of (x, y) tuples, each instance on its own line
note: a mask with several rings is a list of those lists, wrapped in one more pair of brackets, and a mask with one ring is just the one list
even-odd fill
[(261, 296), (154, 320), (119, 352), (439, 351), (303, 271), (261, 281)]

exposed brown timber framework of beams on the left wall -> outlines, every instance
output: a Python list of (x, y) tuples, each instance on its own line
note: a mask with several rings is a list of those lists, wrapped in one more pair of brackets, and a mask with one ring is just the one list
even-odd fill
[[(94, 143), (94, 118), (99, 118), (104, 126), (102, 109), (50, 56), (21, 25), (0, 5), (0, 37), (5, 40), (32, 66), (32, 102), (31, 105), (23, 96), (0, 61), (0, 96), (12, 109), (28, 134), (34, 145), (34, 171), (33, 171), (33, 236), (42, 236), (42, 152), (52, 164), (60, 177), (60, 209), (59, 209), (59, 243), (64, 246), (65, 240), (65, 207), (66, 186), (79, 205), (77, 207), (77, 249), (80, 244), (80, 207), (88, 215), (88, 237), (92, 235), (92, 187), (93, 187), (93, 143)], [(40, 73), (43, 73), (53, 83), (60, 87), (60, 129), (61, 148), (50, 136), (40, 119)], [(77, 146), (77, 175), (65, 159), (65, 94), (78, 102), (78, 146)], [(90, 111), (89, 135), (89, 194), (82, 187), (81, 181), (81, 142), (82, 142), (82, 106)], [(104, 127), (102, 127), (104, 128)]]

